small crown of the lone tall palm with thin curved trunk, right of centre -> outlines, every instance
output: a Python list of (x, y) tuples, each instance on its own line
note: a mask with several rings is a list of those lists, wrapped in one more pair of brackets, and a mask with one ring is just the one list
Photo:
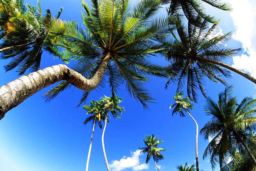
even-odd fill
[(175, 103), (172, 104), (169, 109), (173, 108), (173, 113), (172, 115), (175, 113), (177, 114), (177, 112), (179, 113), (180, 117), (184, 117), (185, 114), (183, 112), (183, 110), (186, 110), (187, 112), (189, 112), (189, 109), (193, 110), (193, 104), (191, 103), (191, 100), (188, 97), (182, 97), (184, 95), (183, 91), (177, 92), (175, 96), (173, 97), (173, 99), (175, 100)]

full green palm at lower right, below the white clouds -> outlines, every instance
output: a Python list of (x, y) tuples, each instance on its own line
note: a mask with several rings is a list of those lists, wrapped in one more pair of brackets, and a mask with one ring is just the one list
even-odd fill
[(217, 103), (209, 98), (204, 106), (206, 115), (212, 116), (212, 119), (205, 124), (200, 134), (204, 135), (206, 140), (212, 140), (203, 158), (211, 155), (212, 168), (219, 162), (221, 169), (237, 149), (243, 154), (246, 150), (256, 166), (255, 157), (249, 149), (255, 145), (255, 142), (251, 141), (250, 131), (256, 129), (256, 118), (253, 117), (256, 113), (256, 100), (245, 97), (241, 103), (237, 103), (232, 92), (232, 86), (226, 88), (219, 94)]

